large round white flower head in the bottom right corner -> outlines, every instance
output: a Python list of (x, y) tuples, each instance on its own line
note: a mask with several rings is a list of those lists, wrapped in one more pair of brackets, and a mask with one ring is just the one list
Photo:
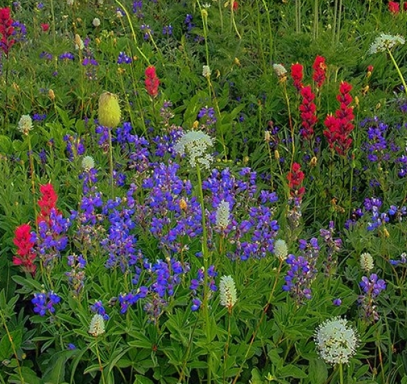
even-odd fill
[(348, 363), (356, 353), (358, 338), (348, 320), (335, 317), (316, 329), (315, 342), (323, 360), (332, 365)]

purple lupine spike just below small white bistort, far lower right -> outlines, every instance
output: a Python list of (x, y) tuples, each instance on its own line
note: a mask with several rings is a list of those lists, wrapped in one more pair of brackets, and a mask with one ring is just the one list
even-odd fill
[(376, 299), (386, 289), (386, 282), (377, 277), (376, 273), (372, 273), (370, 277), (363, 276), (359, 283), (363, 294), (359, 295), (358, 304), (361, 309), (361, 314), (368, 322), (379, 320), (377, 312)]

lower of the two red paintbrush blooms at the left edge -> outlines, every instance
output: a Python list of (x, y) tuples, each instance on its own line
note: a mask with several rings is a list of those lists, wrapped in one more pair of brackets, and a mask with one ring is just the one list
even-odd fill
[(31, 239), (31, 227), (28, 224), (17, 227), (15, 238), (12, 241), (17, 246), (17, 255), (12, 258), (12, 264), (19, 265), (23, 271), (35, 275), (37, 266), (34, 264), (35, 252), (33, 247), (35, 242)]

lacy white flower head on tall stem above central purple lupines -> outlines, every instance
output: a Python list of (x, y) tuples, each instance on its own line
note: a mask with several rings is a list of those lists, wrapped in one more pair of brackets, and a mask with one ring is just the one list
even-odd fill
[(191, 167), (202, 165), (209, 169), (212, 156), (207, 154), (207, 149), (214, 145), (214, 140), (202, 131), (187, 131), (174, 145), (177, 154), (189, 156)]

